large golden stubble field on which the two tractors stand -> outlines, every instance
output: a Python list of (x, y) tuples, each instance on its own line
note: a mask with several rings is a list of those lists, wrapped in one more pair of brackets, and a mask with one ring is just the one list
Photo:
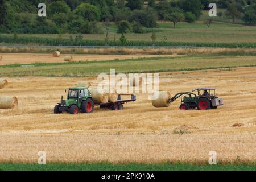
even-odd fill
[[(185, 74), (184, 74), (185, 73)], [(0, 110), (0, 162), (207, 163), (209, 151), (224, 162), (256, 162), (256, 68), (160, 74), (172, 95), (196, 87), (218, 88), (217, 110), (179, 110), (180, 100), (156, 109), (146, 94), (123, 110), (53, 114), (64, 90), (94, 78), (14, 77), (0, 94), (17, 96), (18, 109)], [(238, 126), (234, 127), (236, 124)], [(174, 134), (174, 130), (186, 134)]]

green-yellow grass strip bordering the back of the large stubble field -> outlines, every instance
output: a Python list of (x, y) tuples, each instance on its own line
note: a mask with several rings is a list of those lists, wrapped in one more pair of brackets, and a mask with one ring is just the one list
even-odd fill
[(126, 59), (112, 61), (82, 61), (71, 63), (36, 63), (2, 65), (0, 76), (97, 76), (99, 73), (148, 73), (194, 71), (256, 66), (255, 56), (185, 56)]

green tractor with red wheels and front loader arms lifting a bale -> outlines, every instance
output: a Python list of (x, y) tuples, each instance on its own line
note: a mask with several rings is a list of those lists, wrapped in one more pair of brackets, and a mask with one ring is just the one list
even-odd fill
[[(193, 92), (197, 90), (197, 95)], [(216, 88), (197, 88), (193, 89), (192, 92), (181, 92), (177, 93), (174, 97), (170, 98), (169, 102), (174, 102), (177, 98), (181, 97), (181, 110), (188, 109), (217, 109), (218, 106), (223, 105), (223, 99), (218, 98), (215, 92)], [(200, 92), (204, 93), (201, 94)]]

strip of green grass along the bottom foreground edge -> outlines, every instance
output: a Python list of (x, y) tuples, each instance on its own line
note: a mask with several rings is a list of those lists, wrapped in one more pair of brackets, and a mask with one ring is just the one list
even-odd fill
[(255, 164), (11, 164), (1, 163), (0, 171), (255, 171)]

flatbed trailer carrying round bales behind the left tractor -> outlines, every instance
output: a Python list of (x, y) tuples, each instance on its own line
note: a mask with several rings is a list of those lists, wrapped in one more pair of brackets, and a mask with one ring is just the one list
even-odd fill
[[(121, 96), (130, 96), (130, 99), (122, 100)], [(134, 102), (134, 101), (136, 101), (136, 96), (134, 94), (118, 94), (117, 101), (100, 103), (100, 104), (96, 104), (94, 102), (94, 106), (100, 106), (100, 108), (108, 108), (111, 110), (121, 110), (123, 109), (123, 104), (127, 102)]]

